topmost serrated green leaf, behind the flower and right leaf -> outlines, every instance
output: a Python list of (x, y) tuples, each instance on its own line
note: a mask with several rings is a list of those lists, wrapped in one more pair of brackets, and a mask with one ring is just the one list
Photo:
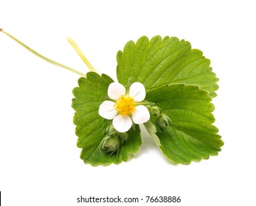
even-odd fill
[(210, 60), (190, 43), (178, 38), (143, 36), (129, 41), (117, 53), (117, 79), (122, 85), (142, 82), (146, 90), (166, 84), (198, 85), (215, 97), (218, 79), (210, 68)]

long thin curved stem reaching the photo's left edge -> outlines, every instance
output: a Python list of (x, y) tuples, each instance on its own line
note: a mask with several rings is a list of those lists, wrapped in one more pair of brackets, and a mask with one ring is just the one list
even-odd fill
[(7, 35), (8, 37), (10, 37), (13, 40), (15, 40), (15, 42), (19, 43), (21, 46), (24, 46), (24, 48), (28, 49), (30, 52), (32, 52), (32, 54), (35, 54), (36, 56), (40, 57), (41, 59), (46, 60), (46, 62), (52, 63), (53, 65), (58, 65), (58, 66), (60, 66), (62, 68), (66, 68), (67, 70), (74, 72), (75, 74), (79, 74), (80, 76), (86, 77), (86, 74), (83, 74), (80, 71), (76, 71), (74, 68), (70, 68), (69, 66), (63, 65), (61, 63), (55, 62), (54, 60), (50, 60), (47, 57), (44, 57), (42, 54), (39, 54), (37, 51), (31, 49), (29, 46), (27, 46), (26, 44), (22, 43), (20, 40), (16, 39), (15, 37), (10, 35), (9, 33), (5, 32), (3, 29), (0, 29), (0, 32), (3, 32), (4, 35)]

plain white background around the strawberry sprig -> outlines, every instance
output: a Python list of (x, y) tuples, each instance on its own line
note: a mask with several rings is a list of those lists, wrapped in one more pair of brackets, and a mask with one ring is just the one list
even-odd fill
[(72, 89), (79, 76), (0, 33), (2, 204), (98, 205), (76, 199), (120, 195), (181, 196), (176, 205), (255, 205), (255, 19), (255, 4), (245, 0), (1, 0), (1, 28), (86, 72), (66, 41), (72, 36), (97, 71), (114, 79), (117, 51), (128, 40), (142, 35), (189, 40), (204, 51), (220, 79), (213, 103), (225, 143), (210, 160), (174, 166), (144, 137), (128, 163), (85, 165), (72, 124)]

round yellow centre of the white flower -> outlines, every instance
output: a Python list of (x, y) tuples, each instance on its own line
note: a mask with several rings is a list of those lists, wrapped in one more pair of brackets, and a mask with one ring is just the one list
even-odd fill
[(122, 95), (115, 106), (121, 116), (131, 115), (135, 111), (134, 98), (130, 96)]

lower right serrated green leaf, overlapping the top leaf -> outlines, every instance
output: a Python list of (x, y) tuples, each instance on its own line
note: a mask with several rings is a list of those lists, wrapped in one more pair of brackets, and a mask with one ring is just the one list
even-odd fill
[(156, 135), (163, 154), (173, 163), (189, 164), (221, 151), (224, 143), (212, 125), (214, 105), (207, 91), (193, 85), (165, 85), (149, 91), (146, 99), (172, 121), (165, 132)]

